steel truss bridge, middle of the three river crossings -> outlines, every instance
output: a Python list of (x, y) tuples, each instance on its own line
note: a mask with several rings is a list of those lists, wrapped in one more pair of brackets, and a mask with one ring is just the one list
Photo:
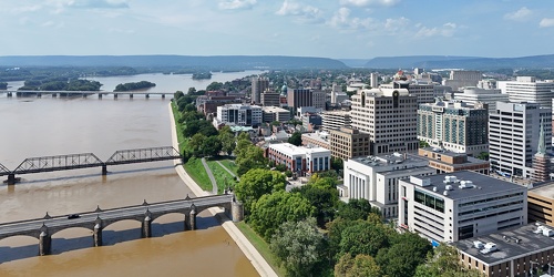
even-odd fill
[(0, 164), (0, 176), (8, 175), (8, 185), (13, 185), (18, 181), (16, 174), (102, 167), (102, 175), (107, 175), (107, 165), (135, 164), (175, 158), (182, 158), (182, 156), (173, 146), (120, 150), (106, 162), (102, 162), (102, 160), (93, 153), (28, 157), (13, 171)]

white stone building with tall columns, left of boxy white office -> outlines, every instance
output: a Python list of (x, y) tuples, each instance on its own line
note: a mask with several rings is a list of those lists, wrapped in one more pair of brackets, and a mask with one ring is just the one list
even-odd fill
[(425, 158), (416, 155), (356, 157), (345, 162), (345, 186), (351, 199), (368, 199), (383, 217), (398, 216), (398, 184), (410, 176), (432, 175)]

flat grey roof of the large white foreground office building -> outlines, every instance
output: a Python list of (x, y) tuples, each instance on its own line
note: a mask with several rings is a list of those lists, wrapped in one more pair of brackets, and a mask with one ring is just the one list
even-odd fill
[[(413, 183), (418, 179), (423, 181), (425, 185), (421, 186), (417, 183)], [(424, 179), (429, 179), (429, 183), (427, 183), (427, 181)], [(450, 182), (447, 182), (447, 179), (450, 179)], [(434, 194), (444, 195), (444, 192), (448, 191), (444, 197), (450, 199), (461, 199), (486, 194), (497, 194), (501, 191), (516, 188), (525, 189), (524, 186), (520, 186), (511, 182), (493, 178), (488, 175), (471, 171), (451, 172), (447, 174), (425, 177), (410, 177), (409, 181), (407, 179), (404, 182), (413, 184), (420, 189), (427, 189), (430, 193)], [(447, 186), (449, 186), (450, 189), (447, 189)]]

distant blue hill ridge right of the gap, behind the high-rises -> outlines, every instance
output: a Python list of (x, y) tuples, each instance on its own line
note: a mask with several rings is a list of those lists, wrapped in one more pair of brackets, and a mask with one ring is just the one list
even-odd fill
[(370, 69), (544, 69), (554, 68), (554, 54), (521, 58), (479, 58), (452, 55), (378, 57), (369, 60), (365, 66)]

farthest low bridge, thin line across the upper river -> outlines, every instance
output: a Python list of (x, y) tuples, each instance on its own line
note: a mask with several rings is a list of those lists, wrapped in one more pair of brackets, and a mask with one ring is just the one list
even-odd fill
[(119, 95), (129, 95), (132, 99), (134, 95), (144, 95), (146, 99), (150, 99), (151, 95), (160, 95), (162, 99), (165, 99), (165, 94), (173, 94), (172, 92), (150, 92), (150, 91), (13, 91), (6, 90), (0, 91), (0, 93), (6, 93), (8, 98), (13, 95), (16, 96), (37, 96), (42, 98), (42, 95), (51, 95), (52, 98), (57, 96), (82, 96), (86, 98), (89, 95), (98, 94), (99, 99), (102, 99), (103, 95), (113, 94), (114, 99), (117, 99)]

